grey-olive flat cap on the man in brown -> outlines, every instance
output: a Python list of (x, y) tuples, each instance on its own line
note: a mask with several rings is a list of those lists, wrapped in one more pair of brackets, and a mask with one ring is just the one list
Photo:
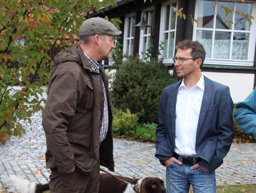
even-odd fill
[(120, 35), (122, 32), (115, 25), (101, 17), (85, 20), (79, 30), (79, 36), (84, 35)]

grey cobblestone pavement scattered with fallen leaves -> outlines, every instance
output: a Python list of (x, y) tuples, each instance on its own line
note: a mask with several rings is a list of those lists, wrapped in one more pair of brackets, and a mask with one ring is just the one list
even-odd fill
[[(46, 93), (43, 94), (46, 98)], [(0, 192), (16, 192), (8, 179), (9, 175), (27, 178), (30, 181), (47, 183), (50, 170), (46, 169), (46, 139), (41, 125), (41, 112), (32, 117), (32, 124), (22, 121), (26, 134), (12, 137), (0, 146)], [(165, 181), (165, 167), (155, 158), (155, 144), (114, 139), (115, 172), (132, 178), (159, 177)], [(233, 143), (224, 163), (216, 170), (217, 185), (255, 184), (256, 144)]]

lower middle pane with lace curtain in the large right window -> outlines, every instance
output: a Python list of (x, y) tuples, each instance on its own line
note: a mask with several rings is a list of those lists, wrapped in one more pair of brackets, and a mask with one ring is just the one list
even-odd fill
[(213, 58), (229, 59), (230, 32), (215, 32)]

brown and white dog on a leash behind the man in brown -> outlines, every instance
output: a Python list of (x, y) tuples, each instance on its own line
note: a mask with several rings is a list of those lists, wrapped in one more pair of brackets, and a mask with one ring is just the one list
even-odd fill
[[(98, 193), (165, 193), (164, 181), (159, 178), (132, 179), (116, 176), (126, 182), (122, 182), (108, 174), (100, 173)], [(42, 193), (49, 190), (49, 183), (37, 184), (26, 179), (9, 177), (13, 186), (21, 193)]]

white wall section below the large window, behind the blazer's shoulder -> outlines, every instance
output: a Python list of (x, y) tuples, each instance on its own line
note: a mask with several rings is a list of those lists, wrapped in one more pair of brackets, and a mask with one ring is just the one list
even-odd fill
[(227, 85), (234, 103), (244, 101), (254, 89), (254, 74), (224, 72), (202, 72), (202, 74), (211, 80)]

